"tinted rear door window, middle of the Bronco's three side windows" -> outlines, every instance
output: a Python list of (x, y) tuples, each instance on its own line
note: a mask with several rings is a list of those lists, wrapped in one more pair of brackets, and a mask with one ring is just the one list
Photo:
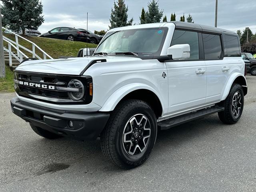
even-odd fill
[(204, 42), (204, 59), (220, 59), (220, 55), (222, 52), (220, 36), (205, 33), (203, 33), (202, 36)]

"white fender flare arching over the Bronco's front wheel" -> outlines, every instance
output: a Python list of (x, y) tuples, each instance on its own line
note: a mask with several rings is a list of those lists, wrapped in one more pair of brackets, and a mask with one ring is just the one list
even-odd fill
[(161, 97), (152, 87), (141, 83), (132, 83), (122, 86), (106, 100), (99, 111), (113, 111), (118, 103), (131, 98), (147, 102), (153, 108), (156, 117), (162, 116), (164, 105)]

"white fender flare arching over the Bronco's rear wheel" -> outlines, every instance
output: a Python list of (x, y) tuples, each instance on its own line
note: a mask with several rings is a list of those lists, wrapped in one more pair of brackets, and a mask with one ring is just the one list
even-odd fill
[(226, 99), (226, 97), (228, 96), (228, 93), (230, 92), (230, 88), (231, 88), (232, 84), (234, 84), (234, 83), (240, 84), (243, 88), (244, 95), (247, 94), (246, 78), (240, 73), (234, 73), (230, 76), (230, 78), (228, 79), (228, 82), (226, 83), (225, 89), (222, 94), (221, 101)]

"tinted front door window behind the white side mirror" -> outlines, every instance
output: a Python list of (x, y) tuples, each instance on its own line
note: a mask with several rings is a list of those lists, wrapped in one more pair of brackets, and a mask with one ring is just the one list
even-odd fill
[(192, 31), (175, 30), (172, 45), (189, 44), (190, 59), (199, 59), (198, 33)]

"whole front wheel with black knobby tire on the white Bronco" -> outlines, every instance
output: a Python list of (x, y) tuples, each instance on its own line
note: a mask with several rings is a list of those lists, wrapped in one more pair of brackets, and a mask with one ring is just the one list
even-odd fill
[(124, 169), (143, 164), (156, 142), (156, 116), (142, 100), (118, 104), (101, 136), (104, 156)]

